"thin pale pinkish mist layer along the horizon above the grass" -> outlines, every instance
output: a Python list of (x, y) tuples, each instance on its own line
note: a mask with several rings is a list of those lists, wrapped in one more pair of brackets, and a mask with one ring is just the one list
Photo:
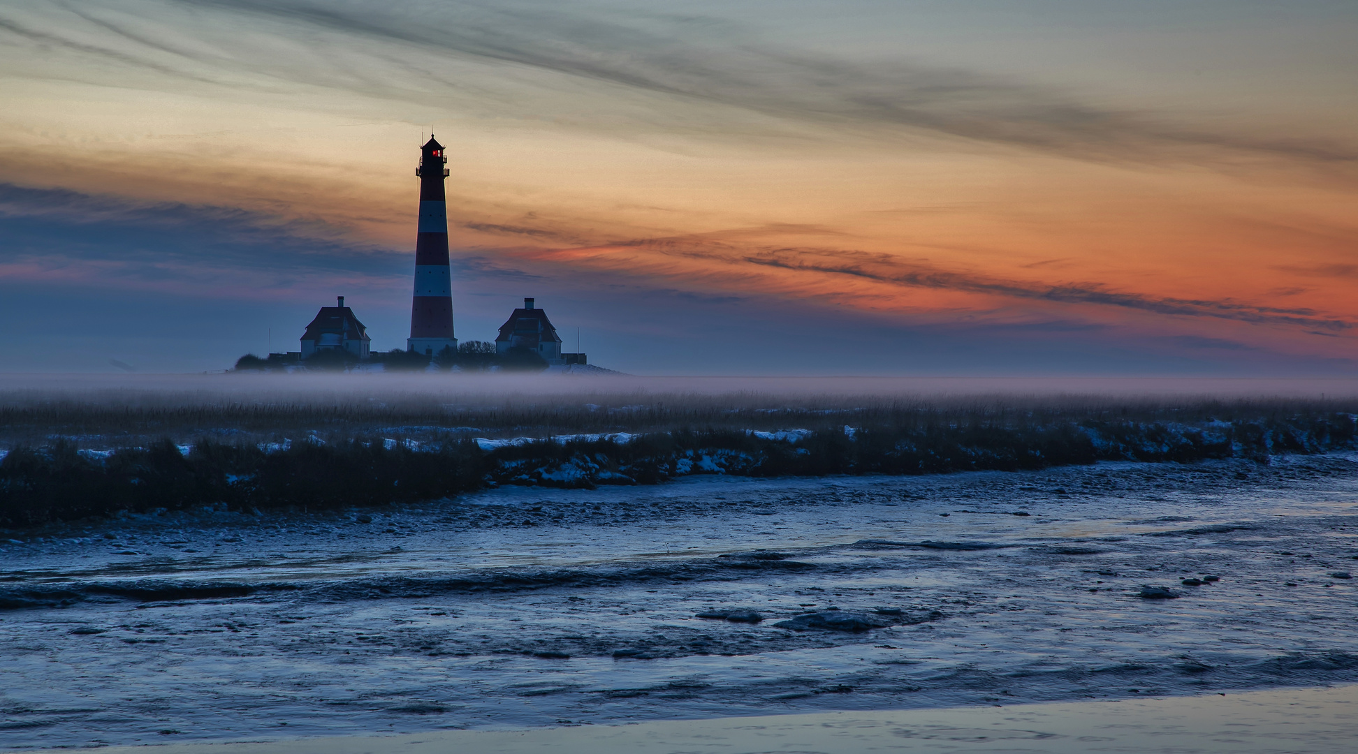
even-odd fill
[(1027, 401), (1036, 399), (1258, 400), (1358, 397), (1354, 378), (1221, 377), (636, 377), (581, 374), (0, 374), (0, 405), (349, 401), (543, 401), (706, 397), (718, 403)]

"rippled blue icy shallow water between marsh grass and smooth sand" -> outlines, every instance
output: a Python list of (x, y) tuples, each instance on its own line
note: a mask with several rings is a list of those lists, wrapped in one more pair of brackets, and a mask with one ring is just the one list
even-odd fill
[[(1358, 458), (1331, 456), (507, 488), (371, 522), (11, 532), (0, 745), (1358, 681), (1358, 580), (1331, 575), (1358, 572), (1355, 503)], [(1180, 584), (1203, 575), (1221, 580)], [(775, 625), (830, 608), (896, 625)], [(712, 609), (765, 620), (695, 617)]]

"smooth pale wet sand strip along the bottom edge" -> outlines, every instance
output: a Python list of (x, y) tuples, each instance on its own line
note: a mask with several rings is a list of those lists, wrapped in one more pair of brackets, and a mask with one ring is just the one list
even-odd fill
[[(1347, 753), (1358, 685), (1202, 697), (191, 743), (158, 754)], [(69, 749), (64, 751), (72, 751)], [(94, 751), (94, 750), (86, 750)], [(105, 747), (102, 754), (145, 751)]]

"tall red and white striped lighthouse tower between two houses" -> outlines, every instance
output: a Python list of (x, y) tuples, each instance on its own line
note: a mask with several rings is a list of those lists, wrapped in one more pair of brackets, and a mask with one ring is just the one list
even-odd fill
[(435, 355), (458, 347), (452, 336), (452, 277), (448, 274), (448, 203), (443, 179), (448, 157), (433, 140), (420, 148), (420, 233), (416, 236), (416, 294), (410, 304), (406, 350)]

